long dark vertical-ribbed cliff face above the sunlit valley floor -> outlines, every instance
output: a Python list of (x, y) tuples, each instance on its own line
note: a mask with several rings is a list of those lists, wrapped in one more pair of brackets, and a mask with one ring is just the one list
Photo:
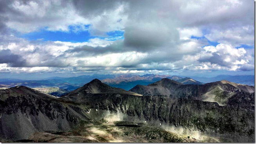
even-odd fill
[[(254, 133), (254, 110), (239, 106), (220, 106), (218, 103), (168, 97), (96, 94), (85, 98), (91, 109), (121, 112), (134, 121), (166, 123), (185, 129), (219, 134)], [(90, 103), (89, 103), (90, 102)], [(98, 113), (98, 111), (96, 112)], [(124, 116), (126, 117), (126, 116)], [(125, 120), (130, 117), (124, 118)]]

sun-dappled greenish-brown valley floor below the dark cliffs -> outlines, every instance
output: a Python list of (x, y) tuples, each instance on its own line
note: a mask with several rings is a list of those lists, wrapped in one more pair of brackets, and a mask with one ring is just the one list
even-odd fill
[(197, 140), (191, 136), (177, 135), (144, 124), (126, 124), (126, 122), (110, 124), (103, 120), (101, 123), (83, 121), (68, 132), (36, 132), (29, 139), (2, 142), (232, 142), (232, 140), (213, 137)]

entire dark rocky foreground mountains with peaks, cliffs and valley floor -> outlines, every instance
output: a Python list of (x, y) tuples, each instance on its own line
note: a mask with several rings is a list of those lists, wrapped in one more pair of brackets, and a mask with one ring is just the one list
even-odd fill
[(254, 87), (228, 81), (0, 89), (1, 142), (255, 142), (254, 124)]

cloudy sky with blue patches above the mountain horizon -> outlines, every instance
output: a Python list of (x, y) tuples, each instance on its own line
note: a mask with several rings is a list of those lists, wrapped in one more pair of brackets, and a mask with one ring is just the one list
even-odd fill
[(0, 0), (0, 78), (254, 75), (253, 0)]

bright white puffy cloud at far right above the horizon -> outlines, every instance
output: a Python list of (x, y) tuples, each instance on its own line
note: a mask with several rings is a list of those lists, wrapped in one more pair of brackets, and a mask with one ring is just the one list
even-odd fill
[(218, 44), (205, 46), (203, 52), (199, 53), (198, 62), (206, 63), (207, 68), (227, 70), (252, 70), (254, 69), (254, 56), (244, 48), (234, 48), (229, 44)]

